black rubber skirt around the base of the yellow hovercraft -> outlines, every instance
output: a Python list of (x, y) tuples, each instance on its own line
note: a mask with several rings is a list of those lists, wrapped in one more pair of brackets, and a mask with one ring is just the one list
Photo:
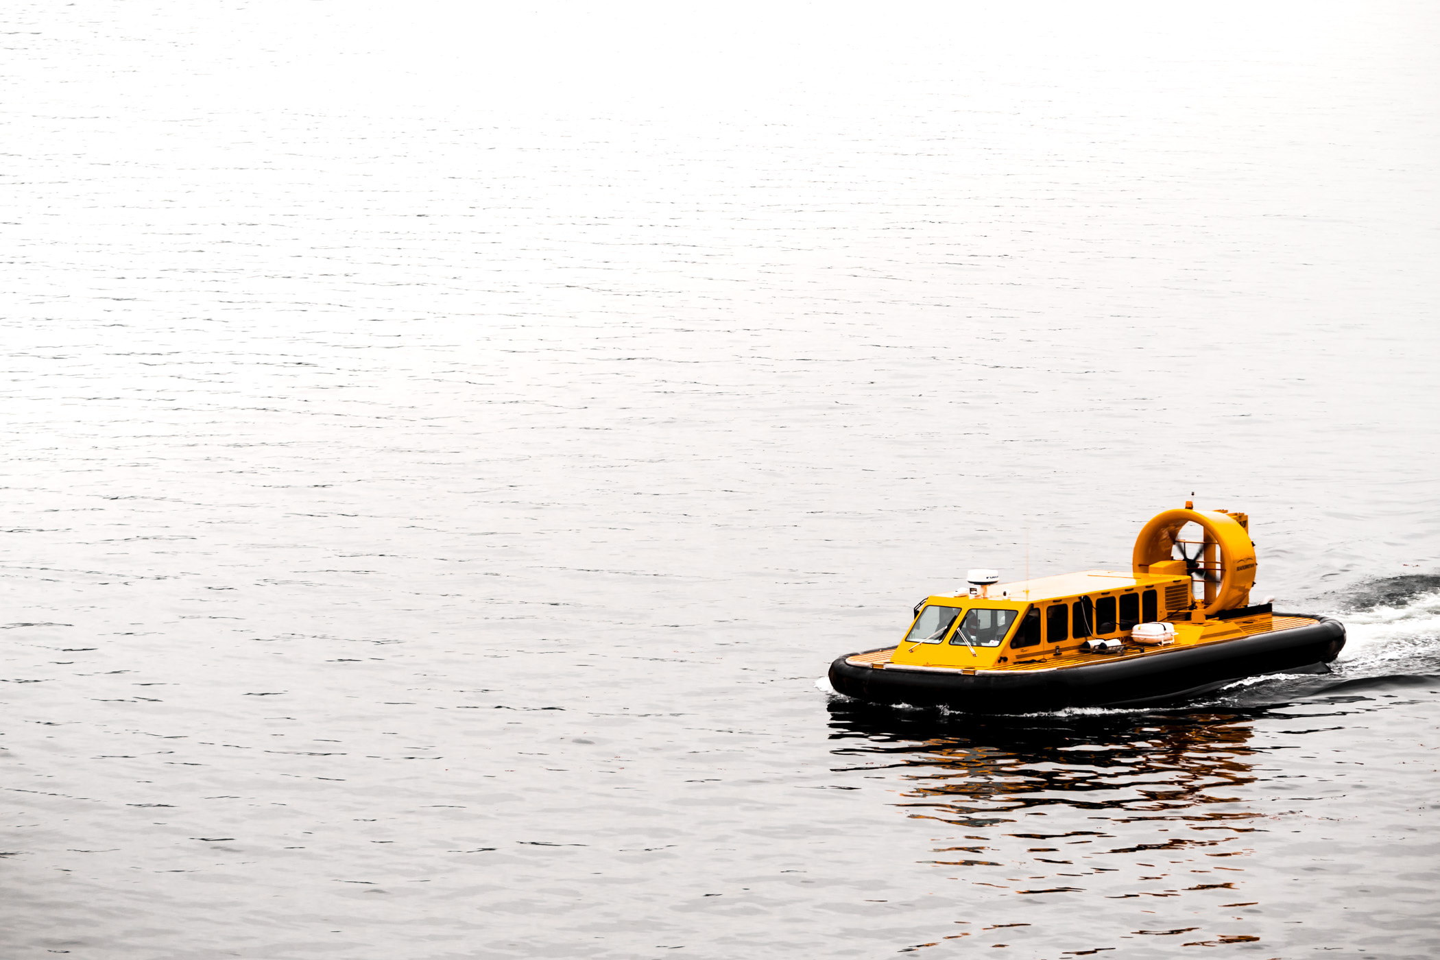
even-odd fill
[(848, 656), (855, 656), (847, 653), (829, 665), (829, 684), (838, 694), (876, 704), (943, 705), (981, 714), (1139, 707), (1185, 699), (1246, 676), (1329, 664), (1345, 646), (1345, 626), (1332, 617), (1315, 619), (1313, 626), (1204, 646), (1162, 648), (1148, 656), (1107, 659), (1097, 653), (1086, 664), (1051, 669), (978, 674), (876, 669), (847, 664)]

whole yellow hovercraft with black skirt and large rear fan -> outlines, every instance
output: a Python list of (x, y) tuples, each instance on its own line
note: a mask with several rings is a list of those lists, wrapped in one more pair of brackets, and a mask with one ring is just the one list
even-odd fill
[[(1198, 538), (1181, 538), (1189, 524)], [(1244, 676), (1325, 672), (1345, 646), (1339, 620), (1250, 606), (1250, 518), (1191, 502), (1145, 524), (1129, 573), (966, 579), (968, 594), (916, 604), (897, 646), (831, 664), (831, 687), (880, 704), (992, 714), (1135, 707)]]

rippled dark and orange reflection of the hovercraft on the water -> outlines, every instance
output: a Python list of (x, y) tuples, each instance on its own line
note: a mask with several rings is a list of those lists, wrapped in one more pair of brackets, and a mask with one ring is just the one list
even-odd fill
[[(981, 717), (829, 704), (837, 771), (893, 777), (896, 806), (932, 822), (917, 862), (939, 871), (936, 892), (975, 907), (960, 930), (1034, 927), (1007, 946), (1024, 933), (1056, 950), (1148, 934), (1257, 940), (1247, 836), (1290, 812), (1250, 789), (1269, 776), (1256, 771), (1266, 748), (1251, 744), (1266, 710)], [(1061, 925), (1063, 943), (1043, 941)], [(971, 936), (953, 930), (942, 938)]]

